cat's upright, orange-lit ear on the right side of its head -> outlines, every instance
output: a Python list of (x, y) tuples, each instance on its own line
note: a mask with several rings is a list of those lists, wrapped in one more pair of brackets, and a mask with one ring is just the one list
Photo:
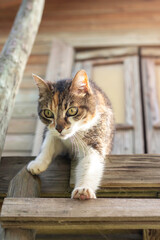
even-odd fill
[(72, 80), (70, 90), (74, 93), (83, 95), (86, 93), (92, 93), (92, 90), (89, 86), (89, 79), (85, 70), (80, 70), (77, 72)]

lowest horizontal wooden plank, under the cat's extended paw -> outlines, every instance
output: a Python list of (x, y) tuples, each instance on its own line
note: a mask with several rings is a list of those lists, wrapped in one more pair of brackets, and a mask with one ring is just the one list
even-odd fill
[(160, 199), (6, 198), (0, 220), (4, 228), (40, 232), (160, 229)]

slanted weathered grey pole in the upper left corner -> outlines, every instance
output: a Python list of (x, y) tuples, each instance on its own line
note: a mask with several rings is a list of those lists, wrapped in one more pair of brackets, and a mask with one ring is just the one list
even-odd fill
[(24, 68), (41, 21), (44, 0), (23, 0), (0, 55), (0, 157)]

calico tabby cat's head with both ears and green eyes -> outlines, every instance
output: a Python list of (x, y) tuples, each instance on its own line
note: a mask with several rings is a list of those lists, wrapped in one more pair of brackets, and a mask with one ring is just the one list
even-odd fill
[(96, 100), (84, 70), (73, 80), (55, 83), (37, 75), (33, 78), (39, 89), (39, 117), (55, 136), (67, 139), (89, 128), (96, 115)]

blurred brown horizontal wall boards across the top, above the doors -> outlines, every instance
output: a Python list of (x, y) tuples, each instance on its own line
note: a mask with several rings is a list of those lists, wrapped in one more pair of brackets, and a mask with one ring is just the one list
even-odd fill
[[(12, 26), (19, 2), (0, 3), (1, 45)], [(37, 41), (60, 36), (77, 46), (158, 44), (159, 13), (159, 0), (47, 0)]]

